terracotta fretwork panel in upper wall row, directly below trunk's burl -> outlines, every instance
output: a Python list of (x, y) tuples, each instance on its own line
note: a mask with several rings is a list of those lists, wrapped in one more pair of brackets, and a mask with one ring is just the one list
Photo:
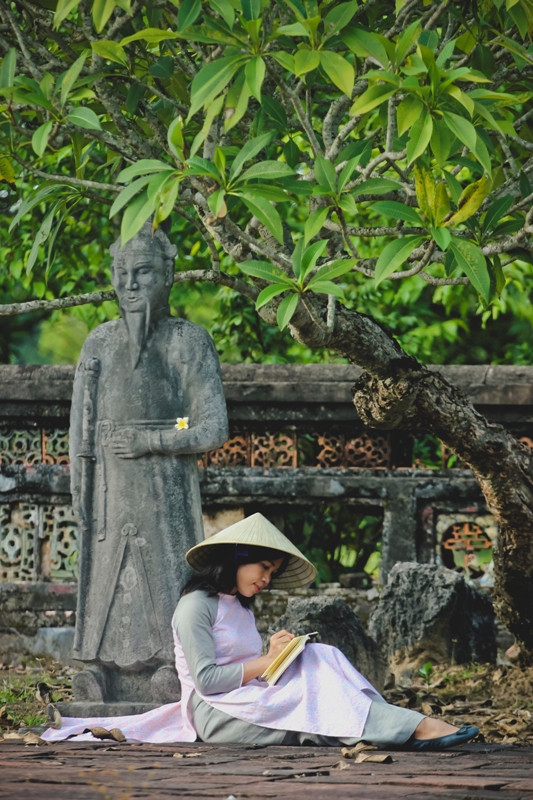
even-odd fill
[(316, 434), (316, 439), (320, 447), (318, 467), (375, 469), (390, 464), (390, 444), (385, 436), (364, 433), (356, 439), (347, 439), (342, 434)]

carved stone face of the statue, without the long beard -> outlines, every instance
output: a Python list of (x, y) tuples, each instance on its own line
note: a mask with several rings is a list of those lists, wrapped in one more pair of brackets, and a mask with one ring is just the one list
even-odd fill
[(121, 253), (113, 266), (113, 286), (126, 312), (152, 310), (168, 304), (172, 276), (163, 256), (154, 250)]

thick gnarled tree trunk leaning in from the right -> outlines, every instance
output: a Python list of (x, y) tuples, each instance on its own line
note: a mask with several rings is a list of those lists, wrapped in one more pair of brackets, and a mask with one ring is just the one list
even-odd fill
[(363, 423), (432, 433), (473, 470), (499, 527), (496, 610), (525, 661), (533, 661), (533, 451), (479, 414), (442, 375), (408, 356), (371, 318), (341, 308), (328, 332), (325, 316), (319, 298), (306, 298), (291, 333), (366, 370), (353, 390)]

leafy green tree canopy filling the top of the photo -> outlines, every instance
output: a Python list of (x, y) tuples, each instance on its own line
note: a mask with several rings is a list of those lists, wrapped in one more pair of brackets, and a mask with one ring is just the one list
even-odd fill
[(0, 177), (25, 233), (11, 281), (42, 298), (4, 313), (111, 297), (87, 247), (56, 244), (81, 224), (94, 256), (120, 217), (123, 242), (179, 217), (210, 263), (178, 280), (229, 286), (282, 329), (304, 309), (332, 331), (338, 303), (411, 276), (472, 287), (488, 318), (528, 271), (530, 0), (1, 0), (0, 16)]

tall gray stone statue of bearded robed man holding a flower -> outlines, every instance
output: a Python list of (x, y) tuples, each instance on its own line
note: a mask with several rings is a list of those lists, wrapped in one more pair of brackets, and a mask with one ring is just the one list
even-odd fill
[(76, 370), (71, 483), (81, 527), (73, 657), (78, 701), (179, 698), (171, 619), (203, 536), (198, 454), (228, 435), (220, 365), (199, 325), (170, 316), (176, 248), (146, 223), (111, 247), (122, 318)]

